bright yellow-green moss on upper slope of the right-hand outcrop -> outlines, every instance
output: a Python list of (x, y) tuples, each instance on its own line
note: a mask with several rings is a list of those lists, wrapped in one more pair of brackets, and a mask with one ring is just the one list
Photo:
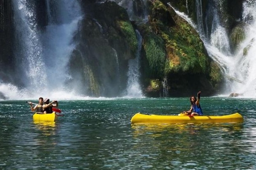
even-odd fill
[[(207, 71), (208, 56), (205, 54), (203, 42), (189, 23), (178, 16), (172, 17), (175, 25), (168, 25), (168, 17), (173, 15), (172, 9), (168, 9), (159, 1), (152, 2), (152, 18), (157, 18), (158, 35), (164, 40), (167, 58), (164, 73), (190, 72), (205, 73)], [(158, 14), (161, 12), (161, 14)], [(170, 14), (170, 15), (168, 15)], [(161, 17), (166, 16), (166, 17)], [(171, 25), (171, 24), (169, 24)], [(175, 62), (176, 61), (176, 62)], [(160, 61), (162, 63), (162, 60)]]

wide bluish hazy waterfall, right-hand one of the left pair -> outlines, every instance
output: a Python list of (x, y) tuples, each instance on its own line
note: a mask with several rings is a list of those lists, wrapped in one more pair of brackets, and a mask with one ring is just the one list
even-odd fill
[[(74, 34), (82, 18), (79, 3), (75, 0), (47, 0), (49, 23), (43, 34), (45, 64), (47, 66), (47, 88), (65, 88), (67, 63), (75, 48)], [(58, 76), (57, 76), (58, 75)], [(63, 90), (63, 89), (62, 89)]]

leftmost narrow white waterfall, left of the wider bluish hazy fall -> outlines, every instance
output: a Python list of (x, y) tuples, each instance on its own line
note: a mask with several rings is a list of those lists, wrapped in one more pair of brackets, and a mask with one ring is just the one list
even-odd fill
[(46, 81), (42, 43), (36, 21), (35, 4), (26, 0), (13, 0), (16, 39), (16, 59), (28, 77), (28, 88), (45, 90), (40, 82)]

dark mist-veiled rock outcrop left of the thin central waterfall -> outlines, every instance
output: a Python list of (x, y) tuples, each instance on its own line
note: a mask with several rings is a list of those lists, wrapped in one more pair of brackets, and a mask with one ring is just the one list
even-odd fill
[(126, 88), (128, 61), (138, 48), (135, 29), (125, 9), (115, 2), (85, 8), (91, 12), (80, 23), (78, 45), (69, 64), (71, 77), (80, 78), (67, 83), (82, 86), (85, 95), (116, 97)]

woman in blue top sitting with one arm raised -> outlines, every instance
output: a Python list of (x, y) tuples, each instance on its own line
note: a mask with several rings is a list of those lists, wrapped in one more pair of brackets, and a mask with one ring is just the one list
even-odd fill
[(191, 96), (190, 97), (191, 108), (190, 108), (189, 111), (186, 111), (188, 113), (188, 115), (191, 115), (191, 116), (203, 116), (203, 111), (202, 111), (200, 103), (199, 103), (199, 101), (200, 101), (200, 94), (201, 94), (201, 91), (199, 91), (197, 93), (198, 100), (196, 100), (195, 96)]

